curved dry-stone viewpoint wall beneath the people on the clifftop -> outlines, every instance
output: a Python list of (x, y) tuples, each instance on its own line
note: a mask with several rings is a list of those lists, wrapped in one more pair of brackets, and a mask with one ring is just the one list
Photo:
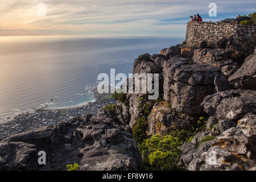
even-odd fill
[(188, 22), (186, 39), (190, 47), (199, 47), (207, 41), (209, 46), (216, 47), (218, 40), (233, 36), (235, 51), (255, 52), (256, 26), (245, 26), (230, 23)]

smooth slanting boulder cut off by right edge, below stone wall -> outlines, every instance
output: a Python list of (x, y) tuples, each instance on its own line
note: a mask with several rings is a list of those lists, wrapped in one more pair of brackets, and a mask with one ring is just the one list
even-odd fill
[(256, 54), (245, 59), (245, 63), (228, 78), (233, 88), (256, 90)]

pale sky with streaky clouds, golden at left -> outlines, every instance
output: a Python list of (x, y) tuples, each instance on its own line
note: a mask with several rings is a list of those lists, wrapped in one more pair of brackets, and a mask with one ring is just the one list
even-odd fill
[[(208, 14), (210, 3), (216, 17)], [(181, 37), (193, 14), (216, 22), (255, 10), (255, 0), (0, 0), (0, 36)]]

